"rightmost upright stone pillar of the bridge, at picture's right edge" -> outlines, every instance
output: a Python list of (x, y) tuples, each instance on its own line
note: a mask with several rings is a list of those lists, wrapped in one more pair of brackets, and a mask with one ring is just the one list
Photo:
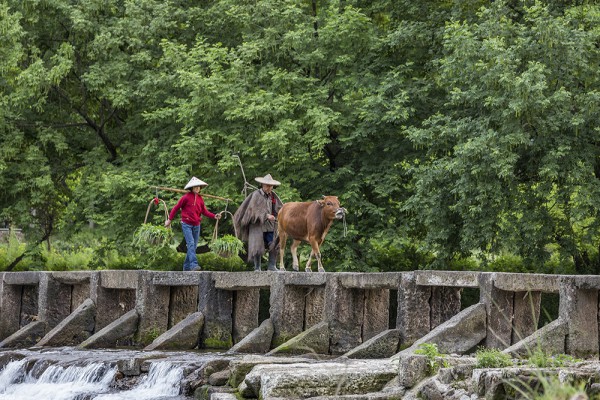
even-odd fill
[(598, 289), (582, 289), (582, 282), (573, 277), (560, 281), (558, 313), (568, 322), (567, 353), (576, 357), (598, 354)]

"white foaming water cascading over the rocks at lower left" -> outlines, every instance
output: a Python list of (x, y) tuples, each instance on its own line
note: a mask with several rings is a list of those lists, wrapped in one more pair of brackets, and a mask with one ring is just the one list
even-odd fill
[[(177, 398), (183, 368), (170, 362), (152, 363), (148, 374), (131, 390), (112, 393), (116, 367), (103, 362), (50, 365), (39, 376), (26, 371), (25, 359), (0, 370), (0, 400), (151, 400)], [(34, 368), (32, 368), (33, 370)]]

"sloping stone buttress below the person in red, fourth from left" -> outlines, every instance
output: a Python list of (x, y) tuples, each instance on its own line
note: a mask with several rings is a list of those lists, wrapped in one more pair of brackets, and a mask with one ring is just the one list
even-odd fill
[(195, 312), (157, 337), (144, 350), (191, 350), (198, 346), (204, 315)]

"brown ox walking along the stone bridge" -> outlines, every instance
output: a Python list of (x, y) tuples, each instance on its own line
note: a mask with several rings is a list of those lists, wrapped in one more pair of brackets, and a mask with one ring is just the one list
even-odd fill
[(289, 236), (293, 240), (290, 250), (294, 260), (292, 264), (294, 271), (298, 271), (298, 245), (305, 241), (312, 247), (306, 262), (306, 271), (311, 271), (310, 264), (314, 255), (319, 265), (319, 272), (325, 272), (319, 246), (325, 240), (333, 220), (343, 218), (345, 213), (346, 209), (340, 207), (336, 196), (323, 196), (323, 199), (316, 201), (285, 203), (277, 215), (280, 270), (285, 270), (283, 256)]

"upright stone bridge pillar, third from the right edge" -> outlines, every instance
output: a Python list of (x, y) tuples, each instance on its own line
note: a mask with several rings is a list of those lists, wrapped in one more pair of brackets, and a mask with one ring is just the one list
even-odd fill
[(431, 330), (430, 297), (431, 287), (417, 285), (414, 273), (402, 275), (396, 320), (402, 345), (411, 345)]

